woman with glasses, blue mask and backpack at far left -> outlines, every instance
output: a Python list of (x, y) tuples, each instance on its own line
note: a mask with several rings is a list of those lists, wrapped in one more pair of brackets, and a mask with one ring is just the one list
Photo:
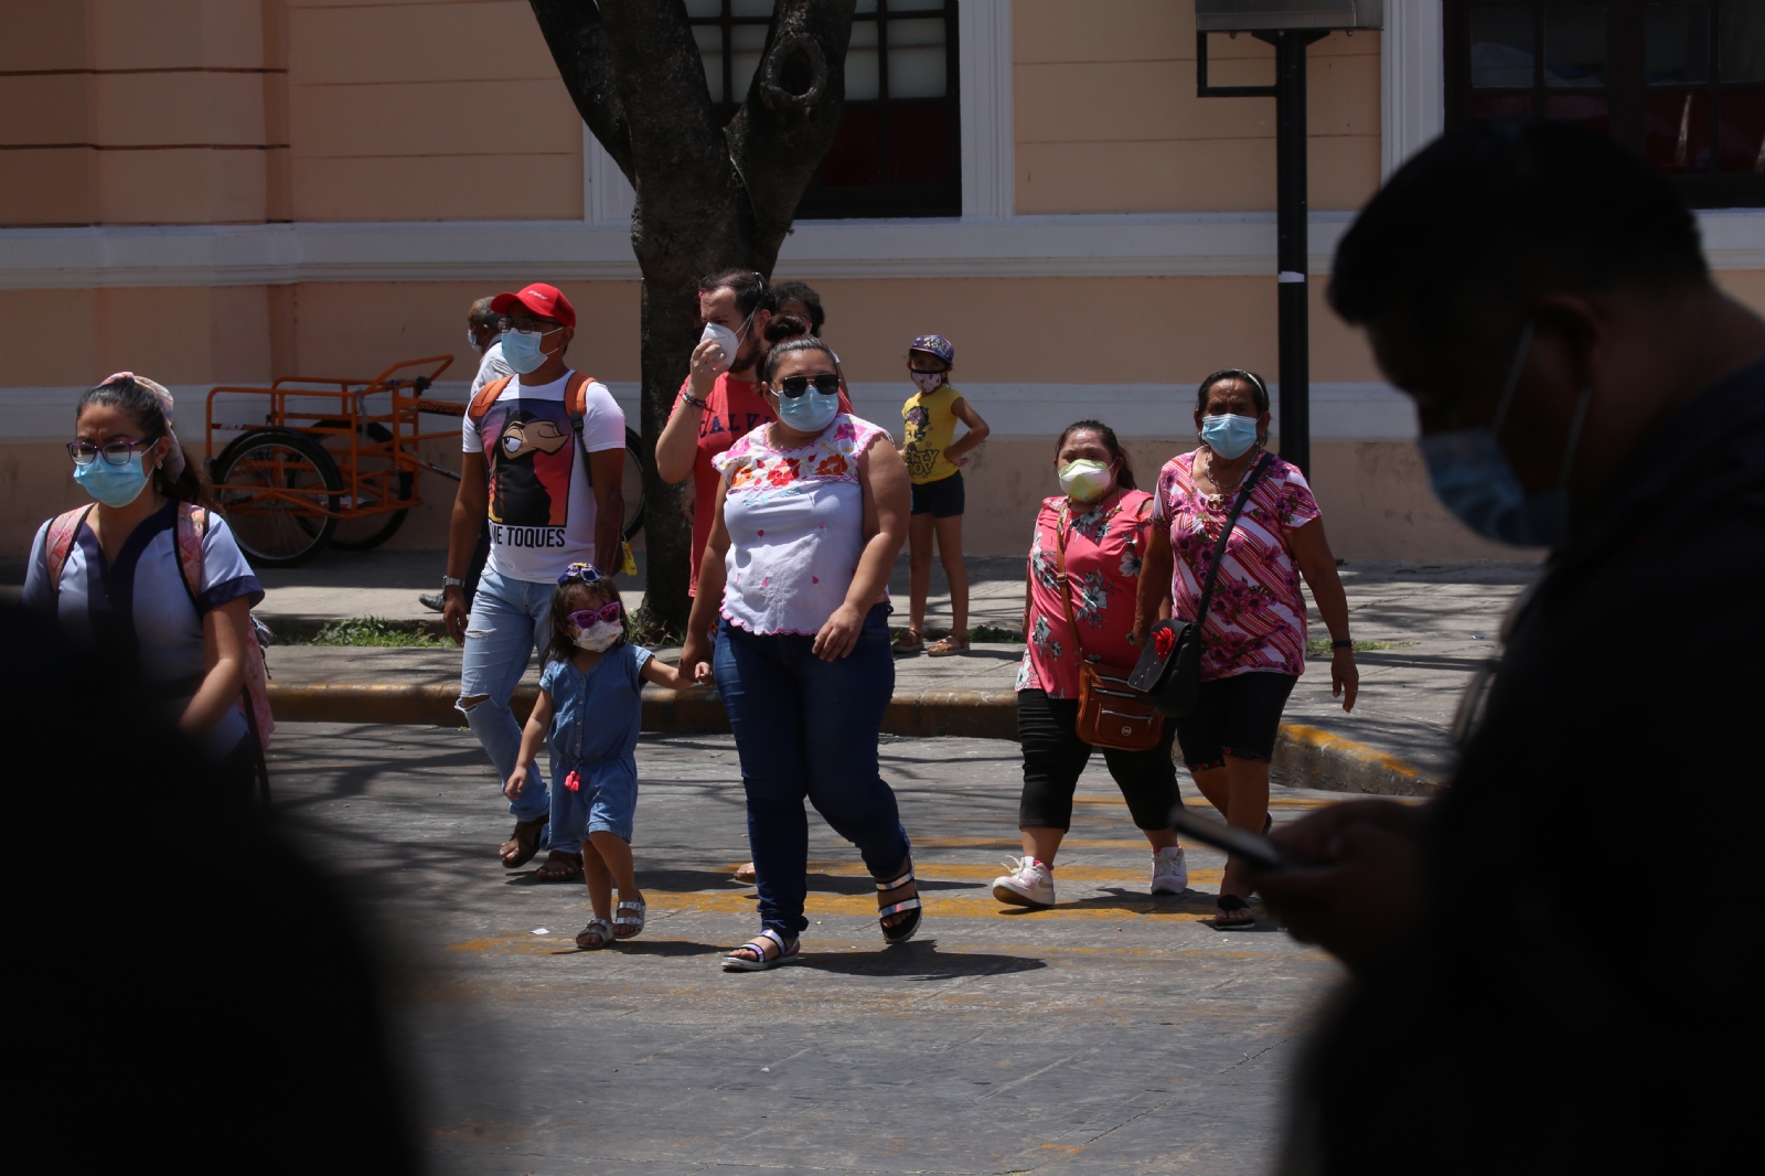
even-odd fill
[(171, 431), (171, 394), (116, 373), (79, 397), (67, 450), (94, 501), (37, 528), (25, 604), (85, 637), (94, 669), (138, 673), (249, 796), (258, 740), (238, 703), (263, 588)]

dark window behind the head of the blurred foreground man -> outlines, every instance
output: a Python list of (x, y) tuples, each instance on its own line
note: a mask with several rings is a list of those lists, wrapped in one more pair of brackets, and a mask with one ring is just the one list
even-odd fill
[(1765, 207), (1765, 0), (1447, 0), (1447, 120), (1585, 124), (1694, 208)]

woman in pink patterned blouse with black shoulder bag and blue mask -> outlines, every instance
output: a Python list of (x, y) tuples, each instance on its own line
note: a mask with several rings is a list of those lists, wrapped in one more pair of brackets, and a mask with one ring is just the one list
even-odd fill
[[(1202, 445), (1177, 454), (1158, 473), (1153, 540), (1140, 577), (1135, 637), (1168, 606), (1195, 620), (1202, 584), (1239, 487), (1266, 454), (1269, 390), (1228, 367), (1202, 380), (1195, 406)], [(1348, 600), (1324, 539), (1317, 500), (1297, 466), (1269, 466), (1227, 540), (1213, 602), (1202, 625), (1202, 689), (1195, 712), (1177, 720), (1183, 761), (1202, 796), (1227, 823), (1251, 832), (1269, 819), (1269, 759), (1287, 696), (1306, 667), (1306, 602), (1299, 577), (1331, 636), (1331, 694), (1354, 710), (1361, 676), (1348, 639)], [(1220, 881), (1221, 929), (1253, 927), (1250, 883), (1237, 858)]]

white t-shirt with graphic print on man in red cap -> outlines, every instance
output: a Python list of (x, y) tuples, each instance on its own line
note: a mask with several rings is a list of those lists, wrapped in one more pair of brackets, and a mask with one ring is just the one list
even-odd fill
[[(582, 450), (625, 449), (625, 413), (607, 385), (591, 380), (577, 447), (563, 403), (570, 374), (540, 385), (515, 376), (482, 420), (468, 413), (462, 426), (461, 449), (484, 454), (491, 471), (487, 567), (508, 579), (544, 584), (575, 562), (600, 567)], [(609, 563), (616, 558), (607, 554)]]

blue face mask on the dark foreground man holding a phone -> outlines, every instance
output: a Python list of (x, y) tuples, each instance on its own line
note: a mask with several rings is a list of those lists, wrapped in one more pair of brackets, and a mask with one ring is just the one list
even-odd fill
[(1581, 441), (1581, 422), (1587, 420), (1594, 390), (1583, 388), (1574, 406), (1557, 486), (1541, 494), (1527, 494), (1497, 438), (1502, 434), (1502, 422), (1507, 420), (1514, 388), (1520, 387), (1520, 373), (1532, 350), (1532, 327), (1528, 320), (1520, 332), (1520, 346), (1514, 350), (1495, 420), (1474, 429), (1435, 433), (1416, 441), (1416, 447), (1428, 463), (1428, 482), (1435, 496), (1460, 523), (1500, 544), (1553, 547), (1569, 523), (1569, 471), (1574, 468), (1574, 450)]

